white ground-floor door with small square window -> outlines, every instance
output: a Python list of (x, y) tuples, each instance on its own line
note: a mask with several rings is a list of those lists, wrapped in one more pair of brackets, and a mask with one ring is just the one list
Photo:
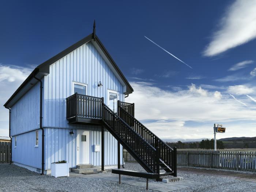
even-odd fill
[(77, 164), (90, 163), (90, 132), (77, 131)]

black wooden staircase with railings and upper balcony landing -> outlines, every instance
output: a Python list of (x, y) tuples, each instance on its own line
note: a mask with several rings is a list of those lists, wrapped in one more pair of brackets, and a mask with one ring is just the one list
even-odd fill
[(104, 104), (104, 98), (76, 93), (67, 98), (67, 119), (69, 123), (105, 127), (148, 173), (158, 174), (158, 179), (177, 176), (176, 148), (169, 147), (134, 117), (134, 103), (118, 101), (116, 114)]

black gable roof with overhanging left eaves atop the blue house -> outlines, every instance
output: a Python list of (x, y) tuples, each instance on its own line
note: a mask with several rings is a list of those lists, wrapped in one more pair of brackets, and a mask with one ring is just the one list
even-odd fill
[[(133, 92), (132, 86), (129, 84), (128, 80), (125, 78), (124, 74), (118, 68), (117, 64), (114, 62), (106, 48), (103, 46), (102, 42), (99, 40), (98, 36), (94, 32), (88, 35), (87, 37), (81, 39), (80, 41), (76, 42), (75, 44), (71, 45), (69, 48), (63, 50), (62, 52), (56, 54), (52, 58), (48, 59), (44, 63), (38, 65), (34, 71), (27, 77), (27, 79), (19, 86), (19, 88), (12, 94), (12, 96), (8, 99), (8, 101), (4, 104), (5, 107), (11, 107), (15, 102), (12, 102), (14, 98), (20, 98), (23, 94), (26, 93), (35, 83), (37, 80), (34, 79), (34, 76), (41, 79), (44, 75), (48, 75), (50, 72), (50, 65), (55, 63), (56, 61), (60, 60), (68, 53), (72, 52), (73, 50), (79, 48), (80, 46), (86, 44), (89, 41), (94, 41), (105, 54), (106, 58), (109, 60), (112, 67), (116, 70), (117, 74), (123, 80), (126, 86), (126, 92), (124, 94), (131, 94)], [(16, 99), (15, 99), (16, 100)]]

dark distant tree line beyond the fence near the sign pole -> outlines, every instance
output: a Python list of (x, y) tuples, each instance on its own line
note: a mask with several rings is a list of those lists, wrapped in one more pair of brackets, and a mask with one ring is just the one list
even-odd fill
[[(203, 139), (201, 142), (193, 143), (182, 143), (178, 141), (177, 143), (166, 142), (170, 147), (177, 147), (179, 149), (214, 149), (214, 139)], [(224, 149), (224, 144), (222, 141), (217, 140), (217, 149)]]

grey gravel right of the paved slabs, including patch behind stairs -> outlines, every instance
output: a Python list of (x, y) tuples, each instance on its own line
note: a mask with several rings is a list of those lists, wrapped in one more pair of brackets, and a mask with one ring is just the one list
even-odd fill
[[(125, 169), (128, 170), (138, 170), (143, 171), (143, 168), (138, 163), (125, 163)], [(110, 174), (110, 173), (109, 173)], [(193, 174), (189, 172), (179, 172), (177, 176), (181, 176), (184, 180), (197, 181), (201, 182), (202, 185), (196, 185), (193, 187), (183, 188), (181, 190), (176, 190), (176, 192), (223, 192), (223, 191), (232, 191), (232, 192), (255, 192), (256, 191), (256, 182), (250, 181), (241, 181), (233, 179), (230, 177), (221, 177), (221, 176), (205, 176), (202, 174)], [(168, 177), (168, 176), (167, 176)], [(182, 184), (182, 181), (180, 181)]]

